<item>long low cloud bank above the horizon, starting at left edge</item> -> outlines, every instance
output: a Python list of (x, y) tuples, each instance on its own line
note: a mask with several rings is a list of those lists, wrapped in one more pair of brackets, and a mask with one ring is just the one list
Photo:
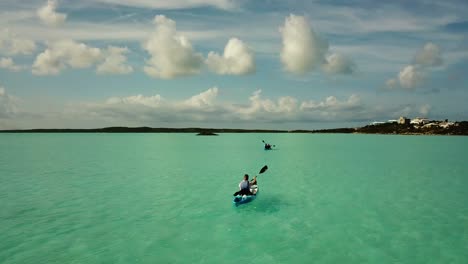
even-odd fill
[(57, 127), (102, 126), (168, 126), (196, 124), (223, 127), (266, 127), (278, 124), (314, 122), (370, 122), (401, 115), (427, 115), (428, 104), (371, 106), (360, 96), (328, 96), (322, 100), (301, 100), (292, 96), (265, 98), (261, 90), (242, 103), (218, 98), (219, 89), (212, 87), (186, 99), (171, 100), (159, 94), (145, 96), (110, 97), (102, 101), (84, 101), (67, 104), (57, 112), (20, 112), (19, 99), (6, 94), (0, 87), (0, 127)]

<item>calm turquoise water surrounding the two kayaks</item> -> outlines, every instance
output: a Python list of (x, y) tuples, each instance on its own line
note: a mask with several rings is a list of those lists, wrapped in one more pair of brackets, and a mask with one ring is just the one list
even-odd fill
[(468, 263), (467, 157), (468, 137), (0, 134), (0, 263)]

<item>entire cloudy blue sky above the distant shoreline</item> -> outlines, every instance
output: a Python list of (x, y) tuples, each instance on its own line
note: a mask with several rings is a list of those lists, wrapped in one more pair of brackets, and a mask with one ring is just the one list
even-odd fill
[(468, 120), (466, 1), (3, 0), (0, 129)]

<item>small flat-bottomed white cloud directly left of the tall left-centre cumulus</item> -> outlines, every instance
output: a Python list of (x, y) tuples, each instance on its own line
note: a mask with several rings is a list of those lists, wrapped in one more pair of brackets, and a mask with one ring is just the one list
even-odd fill
[(127, 64), (127, 48), (109, 46), (104, 51), (104, 62), (97, 66), (98, 74), (128, 74), (133, 72), (132, 66)]

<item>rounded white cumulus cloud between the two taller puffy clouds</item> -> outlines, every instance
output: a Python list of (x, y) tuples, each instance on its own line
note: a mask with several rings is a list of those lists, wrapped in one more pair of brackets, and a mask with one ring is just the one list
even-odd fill
[(218, 74), (242, 75), (255, 71), (255, 59), (252, 50), (237, 38), (231, 38), (228, 41), (223, 55), (210, 52), (206, 64), (213, 72)]

